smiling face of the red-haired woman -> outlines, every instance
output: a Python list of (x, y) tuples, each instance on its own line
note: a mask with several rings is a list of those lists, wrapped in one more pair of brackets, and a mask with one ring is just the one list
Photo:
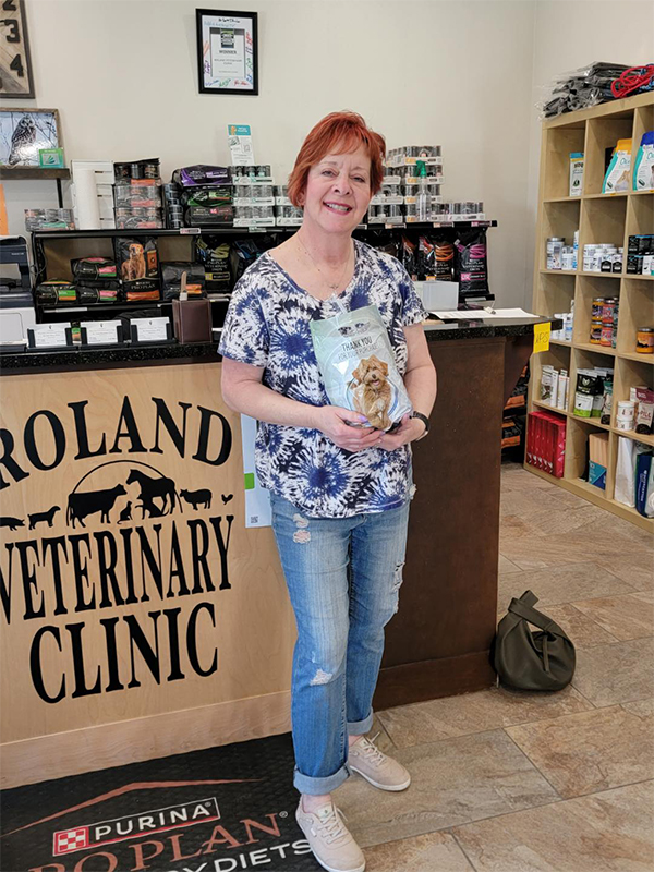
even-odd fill
[(351, 233), (371, 202), (371, 160), (363, 146), (342, 155), (325, 155), (308, 171), (304, 220), (327, 233)]

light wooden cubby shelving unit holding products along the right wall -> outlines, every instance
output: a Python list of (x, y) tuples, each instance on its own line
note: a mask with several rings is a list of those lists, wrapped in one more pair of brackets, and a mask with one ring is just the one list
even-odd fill
[[(654, 520), (643, 518), (635, 509), (614, 499), (618, 438), (623, 436), (654, 445), (654, 436), (618, 431), (615, 426), (617, 401), (629, 399), (630, 387), (645, 385), (654, 388), (654, 354), (635, 352), (638, 327), (654, 326), (654, 277), (582, 271), (583, 246), (588, 243), (613, 241), (623, 246), (626, 267), (628, 238), (637, 233), (654, 233), (654, 192), (602, 194), (605, 148), (615, 146), (620, 138), (631, 137), (635, 157), (642, 134), (650, 130), (654, 130), (652, 93), (569, 112), (543, 124), (533, 311), (544, 315), (569, 312), (573, 300), (574, 330), (572, 342), (553, 340), (549, 350), (534, 354), (531, 362), (530, 411), (550, 409), (537, 401), (544, 365), (565, 368), (570, 376), (568, 408), (565, 412), (558, 411), (567, 420), (564, 477), (556, 479), (528, 463), (524, 469), (654, 533)], [(583, 152), (585, 155), (583, 194), (580, 197), (568, 196), (571, 152)], [(547, 238), (564, 237), (566, 243), (571, 244), (578, 229), (579, 269), (546, 269)], [(617, 296), (620, 300), (615, 349), (590, 343), (591, 303), (594, 296)], [(577, 371), (589, 366), (608, 366), (615, 371), (610, 425), (602, 425), (596, 419), (581, 419), (572, 413)], [(581, 479), (589, 433), (598, 431), (609, 433), (605, 491)]]

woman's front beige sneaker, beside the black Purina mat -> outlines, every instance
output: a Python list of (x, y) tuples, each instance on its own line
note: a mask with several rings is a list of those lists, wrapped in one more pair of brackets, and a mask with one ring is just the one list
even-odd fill
[(298, 825), (323, 869), (327, 872), (364, 872), (363, 852), (341, 815), (334, 802), (326, 802), (315, 812), (304, 811), (302, 799), (295, 812)]

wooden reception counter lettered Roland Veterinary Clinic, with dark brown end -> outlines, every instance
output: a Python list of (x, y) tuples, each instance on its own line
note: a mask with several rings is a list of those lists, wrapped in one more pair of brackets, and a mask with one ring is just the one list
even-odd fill
[[(376, 707), (495, 682), (501, 411), (534, 323), (426, 327)], [(290, 729), (294, 620), (215, 347), (137, 351), (0, 359), (2, 787)]]

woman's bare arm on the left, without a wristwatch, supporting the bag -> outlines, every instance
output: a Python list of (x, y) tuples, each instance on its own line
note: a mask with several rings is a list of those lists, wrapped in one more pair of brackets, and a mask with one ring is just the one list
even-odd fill
[(311, 405), (283, 397), (262, 384), (263, 366), (222, 358), (222, 399), (234, 412), (268, 424), (319, 429), (339, 448), (362, 451), (382, 438), (373, 427), (351, 427), (346, 422), (365, 421), (358, 412), (336, 405)]

